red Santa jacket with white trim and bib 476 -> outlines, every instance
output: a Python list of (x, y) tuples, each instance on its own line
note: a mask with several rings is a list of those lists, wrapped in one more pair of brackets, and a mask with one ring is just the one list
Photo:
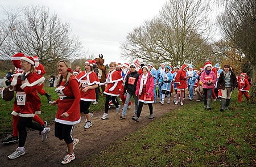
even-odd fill
[(43, 84), (45, 78), (41, 75), (34, 73), (27, 73), (27, 78), (24, 84), (20, 82), (20, 75), (24, 74), (24, 71), (16, 73), (11, 79), (11, 85), (13, 90), (16, 91), (16, 97), (13, 106), (13, 115), (19, 115), (19, 117), (34, 117), (37, 114), (36, 109), (41, 105), (41, 100), (36, 92), (36, 86)]

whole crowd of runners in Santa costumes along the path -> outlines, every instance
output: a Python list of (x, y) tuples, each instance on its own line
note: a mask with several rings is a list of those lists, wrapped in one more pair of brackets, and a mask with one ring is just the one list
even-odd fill
[(67, 144), (67, 155), (61, 161), (62, 164), (68, 164), (75, 159), (73, 149), (79, 143), (79, 139), (73, 139), (72, 131), (81, 121), (80, 113), (85, 115), (84, 128), (92, 127), (93, 114), (90, 113), (89, 106), (92, 102), (94, 105), (98, 104), (100, 86), (104, 87), (102, 92), (105, 96), (105, 112), (101, 117), (102, 120), (109, 118), (108, 111), (112, 105), (119, 113), (118, 117), (125, 119), (127, 109), (133, 104), (131, 97), (134, 99), (134, 114), (131, 119), (136, 122), (139, 122), (145, 104), (149, 110), (148, 118), (152, 119), (154, 104), (156, 102), (161, 105), (170, 104), (171, 95), (175, 95), (173, 101), (175, 105), (183, 105), (185, 97), (188, 96), (189, 100), (204, 101), (203, 107), (208, 110), (211, 109), (210, 103), (218, 99), (221, 101), (221, 112), (228, 109), (232, 92), (236, 88), (239, 91), (238, 101), (241, 102), (242, 95), (249, 100), (248, 76), (246, 73), (236, 76), (229, 65), (224, 65), (222, 70), (219, 63), (213, 66), (211, 62), (206, 62), (204, 67), (197, 70), (192, 64), (172, 67), (163, 62), (156, 70), (153, 62), (145, 64), (139, 64), (138, 61), (131, 64), (111, 62), (109, 71), (104, 76), (105, 82), (100, 82), (102, 73), (98, 71), (95, 60), (86, 61), (84, 71), (81, 71), (80, 67), (73, 71), (70, 63), (61, 60), (57, 63), (59, 75), (55, 89), (59, 99), (52, 101), (51, 95), (43, 90), (45, 80), (43, 75), (46, 71), (39, 63), (38, 57), (17, 53), (13, 55), (12, 62), (16, 70), (4, 82), (5, 89), (2, 91), (2, 96), (3, 99), (11, 100), (13, 97), (8, 99), (10, 92), (16, 92), (11, 113), (13, 135), (2, 143), (18, 142), (19, 144), (18, 148), (8, 156), (9, 159), (16, 159), (26, 153), (24, 148), (27, 137), (26, 127), (38, 130), (42, 135), (42, 142), (47, 140), (51, 131), (47, 127), (47, 122), (42, 121), (38, 115), (41, 106), (38, 93), (47, 97), (49, 105), (58, 105), (55, 136)]

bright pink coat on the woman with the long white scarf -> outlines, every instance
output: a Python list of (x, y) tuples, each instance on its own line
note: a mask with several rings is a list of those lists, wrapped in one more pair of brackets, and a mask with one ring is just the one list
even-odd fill
[[(142, 75), (139, 76), (139, 80), (137, 82), (137, 88), (136, 88), (136, 92), (135, 92), (135, 95), (138, 96), (138, 97), (139, 97), (139, 87), (141, 85)], [(147, 97), (153, 97), (154, 96), (153, 89), (154, 89), (154, 79), (153, 79), (153, 76), (148, 72), (147, 83), (146, 83), (146, 93), (149, 93), (149, 95)]]

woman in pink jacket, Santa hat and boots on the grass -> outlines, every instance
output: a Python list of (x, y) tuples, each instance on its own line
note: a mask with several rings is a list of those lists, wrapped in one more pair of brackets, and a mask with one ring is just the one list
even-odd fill
[(204, 72), (202, 72), (200, 80), (203, 83), (203, 91), (204, 91), (204, 108), (210, 108), (210, 101), (212, 97), (212, 92), (214, 91), (214, 84), (216, 84), (216, 74), (212, 70), (212, 63), (207, 62), (204, 66)]

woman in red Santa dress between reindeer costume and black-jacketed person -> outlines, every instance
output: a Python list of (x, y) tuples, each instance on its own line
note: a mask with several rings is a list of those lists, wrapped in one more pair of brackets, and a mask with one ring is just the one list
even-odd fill
[(109, 72), (106, 75), (106, 82), (101, 83), (100, 85), (108, 84), (104, 93), (106, 95), (106, 101), (105, 101), (105, 113), (102, 115), (101, 119), (106, 119), (108, 117), (108, 111), (109, 111), (109, 101), (111, 99), (112, 103), (117, 108), (117, 113), (121, 111), (121, 105), (119, 105), (117, 101), (117, 97), (119, 96), (119, 84), (123, 78), (119, 72), (115, 70), (117, 65), (114, 62), (111, 62), (109, 64)]

